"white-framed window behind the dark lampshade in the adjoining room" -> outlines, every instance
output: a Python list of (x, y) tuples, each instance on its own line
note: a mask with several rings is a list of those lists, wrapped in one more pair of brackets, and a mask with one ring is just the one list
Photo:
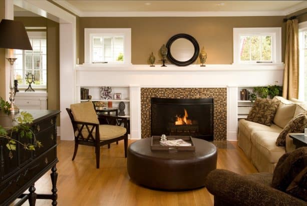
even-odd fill
[(28, 31), (33, 50), (15, 49), (15, 79), (19, 87), (28, 87), (26, 75), (35, 76), (33, 87), (46, 88), (47, 86), (47, 40), (46, 31)]

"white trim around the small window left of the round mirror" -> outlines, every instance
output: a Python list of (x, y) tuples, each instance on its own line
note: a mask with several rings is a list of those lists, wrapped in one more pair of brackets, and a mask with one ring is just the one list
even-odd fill
[(131, 28), (84, 28), (84, 64), (93, 64), (92, 58), (92, 42), (91, 36), (93, 35), (105, 35), (112, 34), (124, 34), (124, 62), (123, 63), (95, 63), (100, 65), (110, 64), (131, 64)]

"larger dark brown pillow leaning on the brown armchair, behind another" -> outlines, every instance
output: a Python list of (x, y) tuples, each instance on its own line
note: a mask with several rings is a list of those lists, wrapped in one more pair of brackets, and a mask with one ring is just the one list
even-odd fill
[(293, 179), (307, 166), (307, 147), (283, 154), (275, 167), (272, 187), (285, 191)]

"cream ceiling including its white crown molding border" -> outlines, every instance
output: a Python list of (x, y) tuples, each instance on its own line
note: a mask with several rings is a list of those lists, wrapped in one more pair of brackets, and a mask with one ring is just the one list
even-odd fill
[(287, 15), (305, 0), (54, 0), (79, 16)]

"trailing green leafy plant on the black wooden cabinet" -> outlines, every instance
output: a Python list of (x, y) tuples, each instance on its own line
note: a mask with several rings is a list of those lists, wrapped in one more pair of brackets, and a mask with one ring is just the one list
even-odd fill
[[(2, 109), (5, 112), (8, 112), (8, 109), (10, 108), (10, 103), (8, 101), (5, 101), (2, 97), (0, 97), (0, 109)], [(26, 112), (21, 111), (20, 115), (16, 116), (13, 121), (17, 123), (17, 125), (11, 127), (11, 133), (8, 133), (7, 129), (0, 125), (0, 138), (5, 138), (8, 140), (8, 143), (6, 144), (7, 148), (9, 150), (16, 150), (16, 144), (21, 144), (25, 149), (28, 150), (35, 150), (36, 147), (41, 147), (42, 143), (40, 141), (37, 141), (35, 138), (34, 132), (31, 130), (29, 123), (33, 122), (33, 116)], [(23, 143), (19, 140), (16, 140), (12, 137), (13, 132), (17, 132), (21, 138), (28, 138), (28, 139), (34, 139), (34, 144), (31, 143)]]

